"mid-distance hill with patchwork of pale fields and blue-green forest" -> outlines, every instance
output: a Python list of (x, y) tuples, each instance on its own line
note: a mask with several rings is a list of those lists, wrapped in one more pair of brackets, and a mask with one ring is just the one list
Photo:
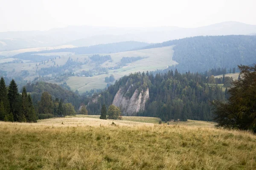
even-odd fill
[(113, 84), (105, 82), (106, 77), (119, 79), (138, 71), (177, 68), (181, 73), (203, 73), (223, 68), (228, 72), (237, 65), (255, 63), (255, 49), (256, 37), (245, 35), (190, 37), (151, 45), (118, 42), (21, 53), (0, 59), (0, 70), (7, 77), (25, 81), (44, 77), (47, 82), (67, 82), (73, 91), (83, 93)]

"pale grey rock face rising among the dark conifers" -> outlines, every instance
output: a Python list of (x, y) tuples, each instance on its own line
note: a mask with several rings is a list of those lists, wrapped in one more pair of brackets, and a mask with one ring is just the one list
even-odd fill
[(145, 103), (149, 99), (149, 91), (148, 88), (142, 92), (136, 89), (130, 99), (125, 95), (128, 91), (129, 89), (125, 91), (124, 88), (120, 88), (113, 99), (112, 105), (120, 107), (124, 115), (134, 116), (137, 112), (145, 110)]

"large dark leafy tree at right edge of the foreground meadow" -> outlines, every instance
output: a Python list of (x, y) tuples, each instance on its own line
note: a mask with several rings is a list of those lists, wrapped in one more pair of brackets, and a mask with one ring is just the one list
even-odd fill
[(232, 82), (227, 103), (214, 102), (219, 127), (253, 130), (256, 133), (256, 64), (239, 65), (241, 79)]

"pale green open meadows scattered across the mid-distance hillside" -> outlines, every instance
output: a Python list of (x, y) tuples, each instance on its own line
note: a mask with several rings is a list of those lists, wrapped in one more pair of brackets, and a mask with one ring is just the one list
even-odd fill
[[(62, 48), (56, 47), (56, 48)], [(83, 93), (86, 91), (90, 91), (91, 89), (102, 89), (107, 87), (107, 83), (105, 82), (105, 77), (109, 77), (110, 75), (114, 75), (116, 79), (119, 79), (125, 75), (129, 75), (130, 73), (138, 72), (138, 71), (155, 71), (157, 69), (164, 69), (169, 65), (178, 64), (174, 60), (172, 60), (172, 55), (174, 53), (173, 46), (162, 47), (162, 48), (151, 48), (151, 49), (144, 49), (144, 50), (134, 50), (134, 51), (125, 51), (120, 53), (111, 53), (111, 54), (100, 54), (100, 55), (111, 55), (112, 62), (107, 61), (102, 63), (100, 67), (102, 68), (111, 68), (114, 66), (119, 65), (122, 57), (146, 57), (144, 59), (129, 63), (122, 68), (109, 70), (108, 74), (101, 74), (94, 73), (93, 77), (68, 77), (64, 81), (67, 82), (67, 85), (73, 91), (78, 90), (79, 93)], [(41, 48), (40, 48), (41, 49)], [(32, 49), (25, 49), (26, 51), (40, 51), (39, 48), (32, 48)], [(42, 48), (44, 49), (44, 48)], [(50, 49), (50, 48), (49, 48)], [(20, 51), (20, 50), (19, 50)], [(21, 50), (22, 51), (22, 50)], [(17, 51), (11, 51), (13, 53)], [(10, 54), (12, 54), (10, 52)], [(68, 58), (71, 57), (74, 61), (84, 62), (93, 54), (74, 54), (71, 52), (56, 52), (56, 53), (44, 53), (44, 54), (37, 54), (37, 55), (44, 55), (44, 56), (60, 56), (61, 58), (56, 57), (53, 61), (46, 62), (45, 64), (39, 65), (39, 62), (32, 62), (30, 60), (23, 60), (23, 63), (4, 63), (4, 62), (11, 62), (14, 58), (7, 58), (7, 59), (0, 59), (0, 70), (7, 71), (8, 73), (13, 74), (13, 71), (19, 73), (20, 71), (27, 70), (29, 75), (25, 78), (25, 80), (32, 81), (35, 77), (38, 77), (36, 74), (37, 70), (41, 70), (41, 68), (49, 68), (51, 66), (57, 65), (64, 65)], [(54, 65), (55, 63), (55, 65)], [(37, 66), (36, 66), (37, 65)], [(80, 65), (77, 68), (73, 68), (74, 73), (80, 73), (81, 71), (85, 70), (92, 70), (96, 68), (95, 63), (87, 63), (84, 65)], [(46, 77), (52, 77), (52, 74), (46, 75)], [(63, 82), (58, 82), (63, 83)]]

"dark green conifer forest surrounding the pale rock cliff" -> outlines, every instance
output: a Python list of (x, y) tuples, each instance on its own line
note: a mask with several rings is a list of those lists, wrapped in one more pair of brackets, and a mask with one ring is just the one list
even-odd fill
[(213, 119), (210, 101), (224, 101), (224, 92), (217, 85), (207, 85), (208, 79), (202, 74), (186, 72), (180, 74), (168, 71), (164, 74), (135, 73), (122, 77), (107, 91), (95, 94), (97, 102), (88, 102), (89, 114), (99, 114), (101, 107), (112, 104), (113, 98), (121, 87), (128, 89), (131, 85), (131, 97), (136, 89), (139, 91), (149, 88), (149, 100), (145, 105), (145, 111), (137, 113), (137, 116), (160, 117), (164, 121), (177, 120), (207, 120)]

